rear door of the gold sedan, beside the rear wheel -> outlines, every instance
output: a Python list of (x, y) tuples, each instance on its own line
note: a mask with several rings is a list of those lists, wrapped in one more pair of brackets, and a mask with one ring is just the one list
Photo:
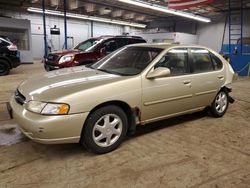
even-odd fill
[(197, 107), (210, 105), (225, 82), (225, 71), (218, 57), (204, 48), (190, 48), (193, 102)]

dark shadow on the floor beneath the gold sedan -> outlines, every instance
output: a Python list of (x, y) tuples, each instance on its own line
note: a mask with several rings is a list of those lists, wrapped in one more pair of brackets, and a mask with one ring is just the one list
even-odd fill
[[(170, 118), (167, 120), (158, 121), (155, 123), (150, 123), (144, 126), (137, 126), (136, 133), (132, 136), (127, 136), (124, 140), (133, 140), (133, 138), (140, 137), (145, 134), (152, 133), (157, 130), (161, 129), (167, 129), (168, 127), (173, 126), (183, 126), (185, 123), (192, 122), (201, 118), (206, 117), (206, 113), (204, 112), (197, 112), (193, 114), (183, 115), (175, 118)], [(20, 135), (22, 135), (20, 133)], [(33, 142), (26, 138), (24, 135), (22, 135), (23, 138), (18, 138), (21, 141), (16, 144), (24, 144), (31, 146), (32, 150), (34, 151), (34, 154), (39, 154), (45, 158), (61, 158), (63, 157), (69, 157), (69, 156), (76, 156), (76, 155), (84, 155), (86, 157), (88, 156), (95, 156), (96, 154), (88, 151), (85, 149), (81, 144), (53, 144), (53, 145), (44, 145), (39, 144), (36, 142)], [(14, 144), (14, 143), (13, 143)], [(12, 145), (12, 144), (10, 144)], [(9, 145), (9, 146), (10, 146)], [(14, 144), (15, 145), (15, 144)], [(25, 147), (25, 146), (23, 146)], [(112, 153), (112, 152), (111, 152)]]

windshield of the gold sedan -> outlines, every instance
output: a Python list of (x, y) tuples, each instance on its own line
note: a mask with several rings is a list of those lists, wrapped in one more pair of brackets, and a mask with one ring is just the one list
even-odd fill
[(160, 48), (124, 47), (90, 66), (111, 74), (132, 76), (141, 73), (162, 51)]

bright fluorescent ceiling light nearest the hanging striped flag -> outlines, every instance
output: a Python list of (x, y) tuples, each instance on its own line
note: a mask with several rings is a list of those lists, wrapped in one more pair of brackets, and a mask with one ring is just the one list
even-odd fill
[(174, 9), (168, 9), (168, 8), (163, 7), (163, 6), (158, 6), (158, 5), (155, 5), (155, 4), (149, 4), (149, 3), (145, 3), (145, 2), (141, 2), (141, 1), (135, 1), (135, 0), (118, 0), (118, 1), (120, 1), (122, 3), (130, 4), (130, 5), (133, 5), (133, 6), (143, 7), (143, 8), (156, 10), (156, 11), (167, 13), (167, 14), (173, 14), (173, 15), (176, 15), (176, 16), (190, 18), (190, 19), (193, 19), (193, 20), (201, 21), (201, 22), (206, 22), (206, 23), (211, 22), (211, 19), (206, 18), (206, 17), (202, 17), (202, 16), (198, 16), (198, 15), (195, 15), (195, 14), (182, 12), (182, 11), (178, 11), (178, 10), (174, 10)]

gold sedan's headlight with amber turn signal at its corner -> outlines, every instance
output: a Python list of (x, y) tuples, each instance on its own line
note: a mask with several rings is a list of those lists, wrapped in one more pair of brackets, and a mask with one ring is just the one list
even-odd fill
[(69, 112), (69, 105), (64, 103), (45, 103), (29, 101), (25, 108), (31, 112), (43, 115), (65, 115)]

